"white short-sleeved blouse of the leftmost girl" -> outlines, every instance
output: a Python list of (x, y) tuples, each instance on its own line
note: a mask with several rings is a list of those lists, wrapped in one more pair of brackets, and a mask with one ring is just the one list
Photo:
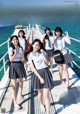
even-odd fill
[[(17, 53), (13, 61), (21, 61), (21, 56), (23, 52), (20, 47), (15, 47), (15, 49)], [(12, 47), (9, 48), (8, 53), (9, 53), (9, 57), (13, 55), (14, 52)]]

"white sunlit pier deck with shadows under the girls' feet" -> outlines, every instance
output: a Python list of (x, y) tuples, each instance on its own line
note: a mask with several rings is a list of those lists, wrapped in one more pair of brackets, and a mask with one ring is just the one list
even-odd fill
[[(34, 38), (40, 38), (40, 32), (37, 29), (32, 30), (32, 36)], [(63, 73), (63, 80), (65, 83), (60, 83), (60, 77), (59, 77), (59, 70), (58, 65), (53, 65), (53, 82), (54, 82), (54, 88), (50, 91), (50, 114), (64, 114), (62, 113), (65, 109), (69, 109), (69, 107), (73, 104), (74, 108), (78, 105), (78, 109), (80, 109), (80, 79), (75, 74), (75, 72), (68, 67), (69, 71), (69, 80), (71, 84), (71, 88), (67, 89), (66, 85), (66, 77)], [(6, 91), (6, 94), (3, 98), (3, 102), (1, 104), (1, 110), (0, 113), (4, 114), (46, 114), (41, 113), (39, 102), (37, 98), (37, 90), (33, 90), (31, 88), (31, 77), (32, 72), (28, 73), (27, 79), (23, 79), (23, 96), (24, 100), (21, 100), (19, 98), (19, 84), (17, 83), (17, 101), (20, 105), (20, 109), (15, 109), (13, 106), (12, 101), (12, 88), (11, 83), (8, 86), (8, 89)], [(73, 111), (74, 109), (72, 109)], [(79, 111), (78, 111), (79, 112)], [(71, 114), (72, 112), (68, 113)], [(77, 113), (77, 110), (75, 110), (74, 114), (80, 114)]]

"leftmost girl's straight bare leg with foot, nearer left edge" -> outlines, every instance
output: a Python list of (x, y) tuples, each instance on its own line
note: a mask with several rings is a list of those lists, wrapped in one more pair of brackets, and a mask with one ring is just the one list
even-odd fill
[(12, 84), (12, 95), (13, 95), (13, 100), (14, 100), (14, 106), (19, 108), (19, 105), (16, 102), (16, 81), (15, 79), (11, 80), (11, 84)]

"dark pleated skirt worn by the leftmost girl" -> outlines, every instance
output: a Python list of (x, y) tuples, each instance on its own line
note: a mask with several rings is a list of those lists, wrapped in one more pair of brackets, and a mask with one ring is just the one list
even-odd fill
[(9, 78), (17, 79), (17, 78), (23, 78), (23, 77), (25, 78), (27, 77), (24, 64), (21, 61), (10, 63)]

